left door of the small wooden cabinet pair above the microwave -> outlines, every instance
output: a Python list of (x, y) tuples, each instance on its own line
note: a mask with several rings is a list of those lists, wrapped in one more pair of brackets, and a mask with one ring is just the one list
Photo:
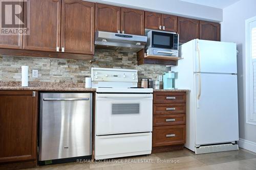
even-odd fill
[(162, 14), (145, 11), (145, 28), (153, 30), (161, 30)]

